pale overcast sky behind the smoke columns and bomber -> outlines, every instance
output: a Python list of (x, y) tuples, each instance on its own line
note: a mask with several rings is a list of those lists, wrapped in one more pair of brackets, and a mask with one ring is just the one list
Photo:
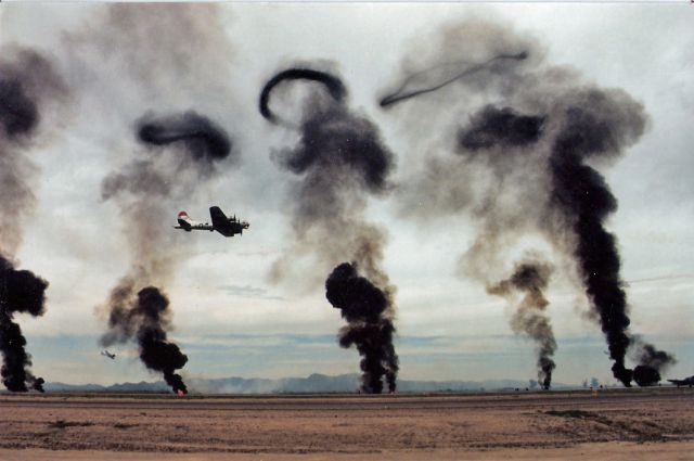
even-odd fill
[[(646, 132), (622, 158), (596, 165), (619, 202), (607, 227), (619, 242), (631, 331), (677, 356), (670, 377), (694, 373), (694, 17), (689, 2), (157, 9), (145, 11), (137, 3), (0, 5), (2, 46), (49, 55), (69, 88), (69, 98), (47, 106), (37, 140), (26, 152), (40, 170), (34, 181), (38, 202), (23, 222), (16, 259), (50, 282), (46, 315), (17, 316), (37, 375), (101, 384), (158, 379), (139, 363), (132, 344), (112, 349), (116, 361), (99, 355), (98, 340), (105, 331), (99, 306), (128, 271), (131, 254), (124, 228), (133, 226), (124, 221), (116, 203), (101, 200), (100, 191), (104, 177), (143, 154), (133, 135), (140, 116), (191, 108), (228, 130), (241, 163), (222, 163), (220, 174), (200, 182), (194, 193), (167, 201), (169, 216), (159, 223), (171, 234), (167, 251), (174, 273), (163, 289), (174, 310), (171, 338), (190, 359), (183, 374), (358, 372), (357, 351), (336, 343), (344, 320), (314, 283), (310, 259), (296, 261), (284, 283), (273, 284), (268, 277), (292, 245), (287, 191), (297, 180), (273, 162), (272, 152), (292, 146), (296, 135), (267, 123), (257, 99), (275, 72), (313, 63), (340, 75), (349, 107), (378, 127), (396, 156), (396, 190), (370, 196), (367, 217), (387, 235), (384, 268), (397, 286), (400, 377), (535, 377), (535, 345), (511, 330), (513, 308), (459, 270), (461, 255), (475, 240), (475, 217), (463, 212), (412, 218), (402, 210), (397, 190), (427, 156), (453, 155), (441, 146), (451, 120), (467, 120), (484, 101), (449, 103), (457, 90), (444, 88), (433, 99), (407, 101), (391, 111), (377, 104), (417, 56), (436, 64), (433, 48), (441, 30), (480, 22), (535, 43), (544, 65), (571, 68), (586, 85), (621, 88), (643, 103)], [(169, 27), (178, 16), (194, 20), (185, 22), (188, 28)], [(466, 42), (455, 47), (461, 60), (476, 49)], [(286, 107), (303, 97), (278, 98), (273, 107), (292, 116), (295, 112)], [(419, 199), (423, 208), (433, 200), (424, 191)], [(248, 231), (224, 239), (171, 228), (181, 209), (208, 220), (214, 204), (248, 220)], [(531, 243), (561, 265), (545, 242)], [(513, 261), (504, 260), (505, 267)], [(547, 297), (558, 344), (555, 382), (596, 376), (613, 383), (605, 341), (587, 315), (588, 303), (570, 270), (560, 271)]]

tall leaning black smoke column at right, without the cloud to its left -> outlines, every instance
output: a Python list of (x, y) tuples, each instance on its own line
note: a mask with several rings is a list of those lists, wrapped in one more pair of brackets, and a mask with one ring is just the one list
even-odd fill
[[(633, 372), (625, 366), (631, 344), (627, 296), (619, 274), (617, 239), (604, 226), (617, 209), (617, 200), (603, 176), (586, 161), (621, 154), (643, 133), (645, 115), (643, 107), (626, 93), (596, 89), (570, 95), (562, 112), (549, 159), (551, 205), (576, 236), (574, 256), (586, 293), (600, 317), (609, 357), (615, 361), (613, 374), (630, 386)], [(651, 384), (658, 371), (654, 367), (659, 364), (641, 363), (643, 377), (638, 384)]]

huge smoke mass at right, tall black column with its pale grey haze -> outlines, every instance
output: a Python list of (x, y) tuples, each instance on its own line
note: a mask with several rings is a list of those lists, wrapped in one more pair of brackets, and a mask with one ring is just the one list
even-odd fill
[[(639, 141), (647, 126), (643, 105), (622, 90), (586, 82), (571, 68), (548, 65), (532, 39), (509, 27), (465, 23), (441, 37), (441, 49), (411, 61), (430, 63), (435, 55), (447, 62), (461, 50), (490, 55), (519, 47), (535, 57), (498, 68), (493, 78), (461, 79), (447, 94), (450, 111), (441, 110), (440, 100), (422, 104), (417, 120), (437, 137), (429, 138), (429, 149), (457, 155), (430, 156), (425, 170), (406, 181), (404, 214), (429, 219), (466, 212), (477, 218), (479, 230), (461, 258), (461, 273), (486, 284), (500, 279), (498, 267), (522, 239), (547, 239), (570, 261), (566, 272), (577, 276), (601, 324), (614, 375), (629, 386), (629, 306), (617, 239), (605, 226), (617, 201), (599, 168)], [(475, 114), (471, 123), (459, 123), (464, 113)], [(426, 137), (420, 125), (409, 127)]]

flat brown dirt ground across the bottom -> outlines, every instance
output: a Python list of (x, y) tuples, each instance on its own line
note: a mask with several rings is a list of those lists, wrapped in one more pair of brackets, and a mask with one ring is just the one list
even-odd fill
[(0, 395), (0, 460), (692, 460), (694, 389)]

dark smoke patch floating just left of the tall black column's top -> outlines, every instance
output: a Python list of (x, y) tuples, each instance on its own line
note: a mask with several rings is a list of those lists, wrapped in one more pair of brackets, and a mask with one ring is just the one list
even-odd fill
[(458, 135), (460, 146), (468, 151), (526, 146), (537, 142), (542, 133), (544, 117), (518, 114), (511, 107), (487, 105), (473, 115), (467, 128)]

